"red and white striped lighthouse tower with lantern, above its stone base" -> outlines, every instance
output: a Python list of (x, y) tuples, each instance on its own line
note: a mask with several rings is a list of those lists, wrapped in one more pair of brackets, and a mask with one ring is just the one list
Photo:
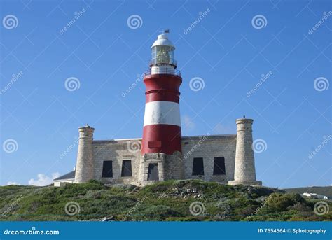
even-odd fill
[(168, 30), (151, 46), (150, 69), (144, 76), (146, 104), (141, 154), (181, 153), (179, 87), (181, 73), (176, 70), (175, 47)]

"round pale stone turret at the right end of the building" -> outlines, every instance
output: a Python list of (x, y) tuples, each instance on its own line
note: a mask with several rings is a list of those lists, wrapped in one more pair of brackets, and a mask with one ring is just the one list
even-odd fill
[(252, 149), (252, 122), (245, 117), (235, 120), (237, 125), (235, 173), (230, 185), (262, 185), (256, 181), (254, 151)]

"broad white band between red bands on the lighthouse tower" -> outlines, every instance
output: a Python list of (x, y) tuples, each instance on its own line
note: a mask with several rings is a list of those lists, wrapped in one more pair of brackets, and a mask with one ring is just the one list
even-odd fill
[(181, 126), (179, 104), (173, 101), (151, 101), (145, 104), (144, 126), (155, 124)]

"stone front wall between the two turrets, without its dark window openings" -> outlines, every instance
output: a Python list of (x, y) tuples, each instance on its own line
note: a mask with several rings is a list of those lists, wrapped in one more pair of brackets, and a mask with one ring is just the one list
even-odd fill
[[(227, 183), (234, 179), (236, 135), (185, 136), (182, 154), (155, 154), (141, 156), (141, 139), (93, 141), (94, 178), (104, 183), (146, 184), (148, 163), (158, 163), (160, 180), (201, 178), (205, 181)], [(204, 176), (192, 176), (193, 158), (202, 157)], [(214, 157), (225, 157), (225, 175), (213, 175)], [(102, 178), (105, 160), (113, 161), (113, 178)], [(132, 161), (132, 177), (121, 177), (123, 160)]]

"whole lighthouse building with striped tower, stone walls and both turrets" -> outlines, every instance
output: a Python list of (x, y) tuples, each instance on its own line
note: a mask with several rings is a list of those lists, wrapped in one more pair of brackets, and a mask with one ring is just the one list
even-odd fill
[(95, 129), (80, 127), (76, 168), (56, 178), (60, 186), (96, 179), (108, 184), (147, 185), (169, 179), (202, 179), (231, 185), (256, 181), (251, 148), (253, 120), (235, 120), (237, 134), (181, 136), (181, 73), (168, 31), (153, 43), (144, 74), (146, 106), (141, 139), (95, 140)]

